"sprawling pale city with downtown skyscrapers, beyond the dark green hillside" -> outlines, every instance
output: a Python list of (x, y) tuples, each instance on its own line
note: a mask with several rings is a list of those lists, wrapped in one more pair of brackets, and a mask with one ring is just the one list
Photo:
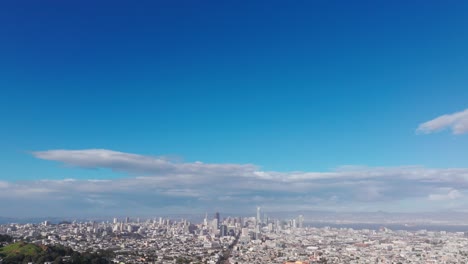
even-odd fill
[(0, 233), (77, 251), (111, 250), (115, 263), (468, 263), (463, 232), (314, 228), (304, 226), (302, 215), (279, 220), (260, 207), (253, 217), (216, 212), (201, 223), (162, 217), (46, 221), (0, 225)]

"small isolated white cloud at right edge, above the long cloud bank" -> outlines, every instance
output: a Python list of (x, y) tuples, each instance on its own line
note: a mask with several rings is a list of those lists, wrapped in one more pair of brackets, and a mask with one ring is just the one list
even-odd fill
[(453, 114), (442, 115), (422, 123), (419, 125), (417, 132), (428, 134), (446, 128), (450, 128), (455, 135), (468, 133), (468, 109)]

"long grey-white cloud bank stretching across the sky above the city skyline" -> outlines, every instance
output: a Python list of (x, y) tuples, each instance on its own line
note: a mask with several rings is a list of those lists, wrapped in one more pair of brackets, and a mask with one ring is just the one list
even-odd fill
[(63, 214), (82, 208), (89, 214), (181, 208), (236, 212), (257, 204), (276, 210), (378, 210), (413, 200), (427, 203), (422, 208), (431, 208), (436, 201), (463, 200), (462, 193), (468, 191), (468, 168), (343, 166), (325, 172), (276, 172), (252, 164), (176, 162), (104, 149), (48, 150), (33, 155), (67, 166), (126, 174), (114, 179), (69, 179), (64, 175), (63, 180), (0, 182), (0, 189), (8, 190), (0, 192), (0, 199), (11, 204), (31, 201), (36, 207), (53, 204)]

